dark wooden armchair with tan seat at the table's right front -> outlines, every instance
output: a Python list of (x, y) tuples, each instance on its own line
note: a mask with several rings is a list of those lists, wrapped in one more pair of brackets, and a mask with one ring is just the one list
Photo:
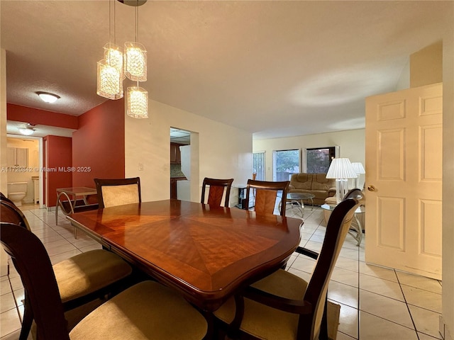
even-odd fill
[[(320, 254), (309, 282), (279, 269), (231, 297), (214, 312), (218, 327), (238, 339), (335, 339), (339, 306), (328, 302), (331, 273), (353, 219), (361, 204), (348, 198), (333, 210)], [(311, 256), (313, 257), (313, 256)]]

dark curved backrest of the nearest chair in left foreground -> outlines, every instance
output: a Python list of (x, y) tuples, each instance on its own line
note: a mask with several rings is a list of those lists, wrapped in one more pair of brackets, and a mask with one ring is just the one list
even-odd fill
[(28, 294), (37, 339), (69, 340), (57, 281), (43, 243), (29, 230), (4, 222), (0, 223), (0, 242)]

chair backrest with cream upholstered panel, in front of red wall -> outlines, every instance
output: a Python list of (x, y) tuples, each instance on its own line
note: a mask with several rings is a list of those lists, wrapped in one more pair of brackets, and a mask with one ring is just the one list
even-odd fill
[(140, 203), (140, 177), (132, 179), (94, 179), (99, 208)]

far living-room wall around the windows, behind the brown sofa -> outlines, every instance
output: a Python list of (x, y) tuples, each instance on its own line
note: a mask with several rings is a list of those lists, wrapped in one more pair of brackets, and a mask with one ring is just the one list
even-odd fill
[[(319, 133), (288, 138), (274, 138), (269, 140), (254, 140), (253, 152), (265, 151), (265, 179), (272, 181), (272, 152), (287, 149), (309, 149), (312, 147), (341, 148), (340, 157), (350, 159), (350, 162), (365, 164), (365, 129), (340, 132)], [(367, 171), (367, 169), (366, 169)]]

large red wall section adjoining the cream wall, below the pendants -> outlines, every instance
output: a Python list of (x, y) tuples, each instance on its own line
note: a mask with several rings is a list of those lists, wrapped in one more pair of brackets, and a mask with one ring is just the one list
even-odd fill
[(106, 101), (79, 115), (79, 129), (72, 133), (73, 186), (94, 188), (95, 178), (125, 177), (124, 105), (124, 99)]

